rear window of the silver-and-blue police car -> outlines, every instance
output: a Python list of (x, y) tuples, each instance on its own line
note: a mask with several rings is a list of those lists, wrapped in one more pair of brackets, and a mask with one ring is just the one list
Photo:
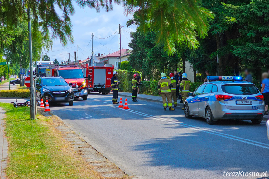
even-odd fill
[(222, 85), (223, 92), (236, 95), (251, 95), (259, 93), (259, 90), (254, 84), (227, 84)]

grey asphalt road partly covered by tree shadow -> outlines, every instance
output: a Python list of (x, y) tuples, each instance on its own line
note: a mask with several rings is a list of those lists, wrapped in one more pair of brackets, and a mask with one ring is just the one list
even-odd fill
[(262, 178), (223, 176), (238, 171), (269, 176), (265, 121), (208, 125), (202, 118), (186, 119), (180, 108), (163, 111), (161, 103), (127, 99), (129, 110), (98, 93), (50, 110), (140, 179)]

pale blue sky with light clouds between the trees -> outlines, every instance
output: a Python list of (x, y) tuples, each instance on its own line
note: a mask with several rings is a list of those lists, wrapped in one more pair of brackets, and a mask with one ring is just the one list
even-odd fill
[[(51, 60), (54, 60), (55, 58), (57, 58), (59, 62), (64, 59), (67, 60), (69, 58), (68, 53), (70, 53), (70, 59), (71, 61), (74, 61), (74, 51), (77, 51), (77, 45), (80, 47), (79, 60), (87, 59), (88, 56), (91, 56), (91, 42), (89, 44), (89, 41), (91, 40), (92, 33), (96, 39), (93, 40), (94, 55), (97, 55), (97, 53), (108, 54), (109, 52), (112, 53), (118, 51), (118, 32), (115, 32), (118, 30), (119, 24), (121, 24), (122, 29), (124, 30), (121, 33), (121, 46), (125, 49), (129, 48), (128, 43), (130, 42), (129, 40), (131, 40), (130, 32), (135, 31), (136, 26), (127, 28), (126, 22), (131, 19), (132, 16), (126, 16), (124, 14), (124, 8), (121, 5), (118, 6), (114, 4), (112, 12), (107, 13), (102, 9), (99, 14), (96, 13), (95, 9), (90, 9), (88, 7), (84, 9), (80, 8), (75, 2), (74, 8), (75, 13), (71, 16), (71, 21), (73, 25), (72, 34), (75, 42), (74, 44), (69, 43), (63, 48), (60, 40), (54, 39), (52, 52), (44, 51), (44, 54), (47, 53)], [(110, 35), (112, 36), (106, 38)], [(97, 37), (106, 39), (98, 39)], [(86, 48), (87, 45), (88, 47)]]

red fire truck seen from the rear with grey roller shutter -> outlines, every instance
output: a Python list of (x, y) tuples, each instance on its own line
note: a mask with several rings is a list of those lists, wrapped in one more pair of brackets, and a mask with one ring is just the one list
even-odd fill
[(92, 65), (81, 65), (86, 79), (88, 93), (99, 92), (108, 94), (111, 91), (111, 78), (113, 76), (114, 66), (112, 64), (94, 63)]

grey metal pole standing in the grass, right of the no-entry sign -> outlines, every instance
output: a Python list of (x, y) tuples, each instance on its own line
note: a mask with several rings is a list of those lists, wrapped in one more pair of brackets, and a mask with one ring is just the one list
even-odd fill
[(36, 119), (35, 110), (35, 87), (34, 87), (34, 76), (33, 76), (33, 57), (32, 57), (32, 31), (31, 31), (31, 15), (30, 8), (28, 7), (28, 31), (29, 31), (29, 57), (30, 57), (30, 118)]

